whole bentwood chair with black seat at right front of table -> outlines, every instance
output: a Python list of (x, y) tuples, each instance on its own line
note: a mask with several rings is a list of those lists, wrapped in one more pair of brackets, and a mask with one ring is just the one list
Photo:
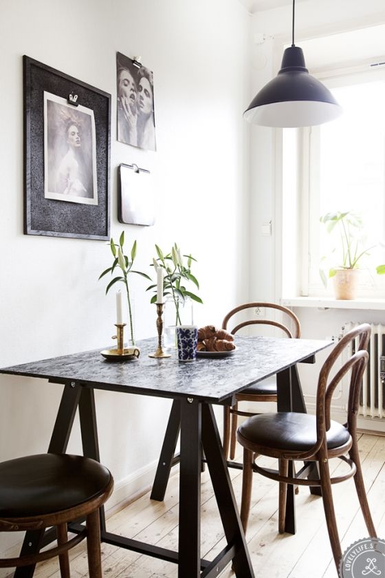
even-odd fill
[[(252, 473), (256, 471), (266, 478), (280, 482), (278, 529), (285, 528), (286, 484), (321, 486), (322, 500), (325, 509), (327, 529), (333, 557), (338, 564), (342, 556), (336, 514), (333, 506), (331, 484), (344, 482), (353, 476), (358, 500), (364, 520), (371, 537), (376, 537), (369, 504), (366, 499), (364, 480), (360, 465), (357, 445), (357, 413), (360, 400), (362, 376), (369, 354), (366, 351), (371, 327), (367, 323), (358, 325), (349, 331), (334, 347), (322, 365), (318, 378), (316, 416), (281, 412), (263, 414), (249, 418), (238, 428), (237, 439), (243, 446), (243, 486), (241, 502), (241, 520), (246, 531), (250, 511), (252, 490)], [(360, 339), (358, 350), (347, 361), (341, 362), (341, 355), (349, 344)], [(342, 356), (343, 360), (343, 356)], [(350, 372), (349, 403), (347, 423), (341, 425), (331, 420), (331, 398), (338, 383)], [(330, 377), (332, 375), (332, 377)], [(254, 454), (278, 458), (279, 471), (267, 470), (257, 466)], [(349, 454), (349, 457), (347, 457)], [(335, 478), (330, 477), (329, 460), (340, 458), (349, 471)], [(318, 462), (320, 478), (307, 480), (307, 466), (294, 474), (288, 475), (289, 461), (300, 460)]]

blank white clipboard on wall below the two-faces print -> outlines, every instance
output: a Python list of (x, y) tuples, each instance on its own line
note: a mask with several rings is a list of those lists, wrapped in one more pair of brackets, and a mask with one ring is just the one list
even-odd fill
[(126, 225), (155, 223), (155, 200), (150, 171), (136, 164), (120, 164), (118, 179), (118, 220)]

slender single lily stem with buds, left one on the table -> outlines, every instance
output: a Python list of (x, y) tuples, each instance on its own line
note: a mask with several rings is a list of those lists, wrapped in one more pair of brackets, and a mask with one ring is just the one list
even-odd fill
[(133, 307), (129, 290), (129, 275), (130, 273), (136, 273), (137, 275), (142, 275), (142, 277), (145, 277), (146, 279), (150, 279), (150, 281), (151, 277), (149, 277), (149, 275), (146, 275), (146, 273), (143, 273), (142, 271), (133, 270), (133, 262), (135, 261), (136, 257), (136, 241), (133, 242), (130, 257), (124, 255), (123, 246), (124, 246), (124, 231), (122, 231), (120, 235), (119, 244), (115, 243), (113, 238), (111, 237), (109, 247), (111, 248), (111, 253), (113, 256), (113, 263), (111, 267), (104, 270), (100, 274), (99, 279), (102, 279), (102, 277), (104, 277), (104, 275), (107, 275), (108, 273), (111, 273), (111, 275), (113, 275), (114, 272), (118, 271), (118, 275), (108, 283), (106, 288), (106, 295), (111, 289), (111, 287), (115, 285), (115, 283), (120, 282), (124, 284), (126, 288), (127, 303), (129, 306), (129, 328), (131, 336), (131, 345), (135, 345), (135, 336), (133, 332)]

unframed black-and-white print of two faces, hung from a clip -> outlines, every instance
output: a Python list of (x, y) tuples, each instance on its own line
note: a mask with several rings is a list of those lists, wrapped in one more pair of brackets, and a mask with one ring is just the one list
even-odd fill
[(118, 140), (156, 151), (153, 73), (117, 52), (116, 85)]

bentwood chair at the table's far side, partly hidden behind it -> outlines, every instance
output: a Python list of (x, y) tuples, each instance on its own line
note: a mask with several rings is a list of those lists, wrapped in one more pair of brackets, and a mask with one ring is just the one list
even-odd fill
[[(248, 321), (243, 321), (238, 325), (235, 325), (230, 333), (235, 334), (241, 328), (247, 327), (248, 325), (272, 325), (280, 330), (282, 330), (288, 337), (299, 338), (300, 337), (300, 322), (298, 317), (281, 305), (276, 305), (275, 303), (245, 303), (232, 309), (223, 319), (222, 329), (227, 330), (228, 323), (230, 319), (236, 314), (246, 309), (263, 308), (266, 311), (267, 317), (264, 319), (250, 319)], [(278, 323), (272, 319), (274, 310), (281, 312), (283, 314), (283, 322)], [(289, 328), (289, 324), (293, 325), (293, 330)], [(232, 407), (225, 406), (223, 409), (223, 451), (225, 453), (225, 458), (228, 458), (228, 451), (230, 445), (230, 460), (234, 460), (235, 457), (235, 442), (236, 442), (236, 426), (238, 421), (238, 416), (254, 416), (255, 412), (252, 414), (250, 411), (239, 411), (238, 402), (239, 401), (272, 401), (277, 400), (277, 390), (276, 384), (271, 381), (262, 381), (261, 383), (256, 383), (251, 385), (243, 392), (236, 394), (236, 403)], [(230, 425), (230, 416), (231, 425)]]

